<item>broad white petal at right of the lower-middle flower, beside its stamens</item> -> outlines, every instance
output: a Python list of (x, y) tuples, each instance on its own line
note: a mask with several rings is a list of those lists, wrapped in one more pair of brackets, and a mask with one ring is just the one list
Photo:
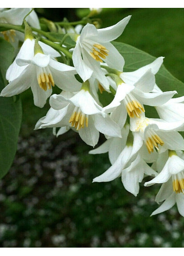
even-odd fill
[(115, 121), (113, 121), (113, 119), (111, 119), (111, 117), (108, 115), (105, 117), (102, 115), (95, 115), (94, 126), (97, 130), (105, 135), (121, 138), (121, 129), (119, 125), (116, 124)]

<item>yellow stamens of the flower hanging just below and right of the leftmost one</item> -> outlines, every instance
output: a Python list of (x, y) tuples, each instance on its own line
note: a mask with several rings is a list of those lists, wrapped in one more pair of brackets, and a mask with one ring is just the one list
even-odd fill
[(71, 123), (71, 126), (75, 127), (77, 130), (84, 128), (84, 125), (88, 127), (88, 115), (82, 113), (79, 107), (75, 107), (70, 117), (69, 123)]

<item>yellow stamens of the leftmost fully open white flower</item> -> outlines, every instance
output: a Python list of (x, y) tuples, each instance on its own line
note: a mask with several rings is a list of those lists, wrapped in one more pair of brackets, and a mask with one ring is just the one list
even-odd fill
[(50, 69), (46, 66), (45, 68), (37, 67), (37, 80), (40, 88), (44, 91), (51, 89), (54, 86), (54, 80)]

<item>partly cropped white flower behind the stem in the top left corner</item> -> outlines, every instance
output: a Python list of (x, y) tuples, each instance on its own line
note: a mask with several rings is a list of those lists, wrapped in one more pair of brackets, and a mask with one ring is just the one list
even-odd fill
[[(24, 17), (30, 11), (31, 8), (10, 8), (8, 10), (4, 9), (0, 12), (0, 22), (21, 25)], [(40, 29), (39, 19), (34, 10), (32, 10), (32, 12), (26, 17), (26, 20), (28, 21), (30, 26)], [(1, 34), (7, 41), (13, 43), (14, 46), (16, 46), (18, 40), (23, 41), (23, 34), (13, 29), (3, 31), (1, 32)]]

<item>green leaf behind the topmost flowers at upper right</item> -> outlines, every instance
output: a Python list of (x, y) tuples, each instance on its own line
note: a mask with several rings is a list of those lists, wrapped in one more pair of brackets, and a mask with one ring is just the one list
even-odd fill
[[(113, 44), (125, 59), (124, 71), (126, 72), (137, 70), (141, 68), (141, 66), (147, 65), (156, 59), (149, 53), (141, 51), (133, 46), (129, 46), (129, 44), (121, 42), (113, 42)], [(178, 94), (176, 94), (176, 97), (184, 95), (184, 83), (169, 73), (163, 64), (155, 77), (156, 84), (163, 92), (177, 91)]]

